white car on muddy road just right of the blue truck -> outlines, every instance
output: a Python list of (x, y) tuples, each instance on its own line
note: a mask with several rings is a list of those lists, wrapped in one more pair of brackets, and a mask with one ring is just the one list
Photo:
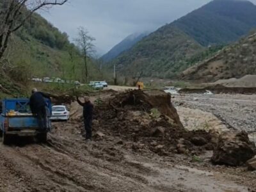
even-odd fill
[(52, 106), (51, 120), (65, 120), (69, 119), (70, 112), (66, 106)]

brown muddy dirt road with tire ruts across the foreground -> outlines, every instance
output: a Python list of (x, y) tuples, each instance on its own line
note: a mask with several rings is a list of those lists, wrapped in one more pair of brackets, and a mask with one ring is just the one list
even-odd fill
[(179, 166), (177, 157), (138, 156), (116, 146), (118, 138), (85, 143), (78, 125), (54, 127), (47, 144), (0, 145), (0, 191), (247, 191), (226, 174)]

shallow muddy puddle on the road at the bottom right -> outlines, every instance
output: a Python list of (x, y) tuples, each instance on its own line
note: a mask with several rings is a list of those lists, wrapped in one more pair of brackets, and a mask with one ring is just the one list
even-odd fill
[(156, 171), (158, 174), (145, 176), (152, 186), (161, 186), (180, 191), (207, 191), (207, 192), (243, 192), (248, 191), (229, 180), (219, 180), (218, 173), (207, 172), (188, 166), (174, 166), (160, 168), (157, 164), (143, 163), (143, 166)]

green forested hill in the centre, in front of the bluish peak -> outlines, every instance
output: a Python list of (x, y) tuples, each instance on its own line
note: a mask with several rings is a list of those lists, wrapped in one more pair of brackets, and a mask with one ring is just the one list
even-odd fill
[(131, 76), (143, 72), (143, 76), (168, 77), (184, 70), (189, 58), (203, 50), (204, 47), (186, 33), (175, 27), (163, 26), (114, 62), (118, 70)]

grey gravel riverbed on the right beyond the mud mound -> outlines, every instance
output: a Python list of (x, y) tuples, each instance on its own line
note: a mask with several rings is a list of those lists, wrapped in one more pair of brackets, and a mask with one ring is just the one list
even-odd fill
[(256, 95), (200, 95), (175, 96), (175, 106), (207, 111), (218, 117), (228, 129), (256, 132)]

